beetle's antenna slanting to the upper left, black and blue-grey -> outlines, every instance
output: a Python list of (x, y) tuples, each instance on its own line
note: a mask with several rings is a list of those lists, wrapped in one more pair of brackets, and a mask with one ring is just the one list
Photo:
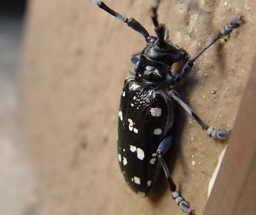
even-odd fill
[(92, 1), (92, 3), (95, 3), (97, 6), (99, 6), (99, 8), (105, 10), (106, 12), (110, 13), (112, 16), (121, 20), (121, 22), (126, 23), (130, 28), (133, 28), (133, 30), (135, 30), (138, 33), (140, 33), (141, 35), (143, 35), (145, 37), (145, 39), (148, 38), (148, 36), (149, 36), (148, 31), (146, 31), (146, 29), (142, 26), (142, 24), (137, 22), (136, 19), (134, 19), (134, 18), (128, 19), (127, 17), (119, 14), (118, 12), (116, 12), (116, 11), (112, 10), (111, 8), (109, 8), (108, 6), (106, 6), (105, 3), (103, 3), (103, 1), (99, 1), (99, 0), (91, 0), (91, 1)]

